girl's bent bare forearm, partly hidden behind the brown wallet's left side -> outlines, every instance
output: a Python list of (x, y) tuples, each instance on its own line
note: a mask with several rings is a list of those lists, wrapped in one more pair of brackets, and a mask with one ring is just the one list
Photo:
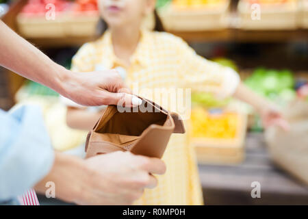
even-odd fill
[(73, 129), (90, 130), (94, 127), (103, 112), (87, 112), (86, 110), (68, 107), (66, 123)]

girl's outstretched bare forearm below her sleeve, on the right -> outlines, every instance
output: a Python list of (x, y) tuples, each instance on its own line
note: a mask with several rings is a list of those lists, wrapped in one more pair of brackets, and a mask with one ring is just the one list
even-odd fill
[(263, 112), (264, 109), (271, 105), (270, 101), (253, 92), (253, 90), (245, 86), (242, 82), (239, 83), (238, 88), (235, 90), (233, 96), (252, 105), (255, 110), (257, 110), (257, 112)]

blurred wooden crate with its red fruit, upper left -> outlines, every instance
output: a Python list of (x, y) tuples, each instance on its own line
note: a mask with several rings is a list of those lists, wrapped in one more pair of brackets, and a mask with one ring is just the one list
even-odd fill
[[(47, 18), (50, 3), (55, 16)], [(18, 31), (26, 38), (92, 38), (98, 21), (96, 0), (29, 0), (17, 16)]]

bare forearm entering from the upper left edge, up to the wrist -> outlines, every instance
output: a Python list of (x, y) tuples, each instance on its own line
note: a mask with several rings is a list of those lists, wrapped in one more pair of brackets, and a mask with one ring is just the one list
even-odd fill
[(1, 66), (57, 92), (64, 92), (62, 81), (68, 78), (66, 69), (55, 64), (2, 21), (0, 21), (0, 51)]

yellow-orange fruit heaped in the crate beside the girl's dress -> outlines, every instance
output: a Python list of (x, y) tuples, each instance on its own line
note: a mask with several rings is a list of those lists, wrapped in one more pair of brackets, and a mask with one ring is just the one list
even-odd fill
[(209, 113), (203, 107), (192, 110), (193, 138), (235, 138), (238, 129), (238, 114), (232, 112)]

